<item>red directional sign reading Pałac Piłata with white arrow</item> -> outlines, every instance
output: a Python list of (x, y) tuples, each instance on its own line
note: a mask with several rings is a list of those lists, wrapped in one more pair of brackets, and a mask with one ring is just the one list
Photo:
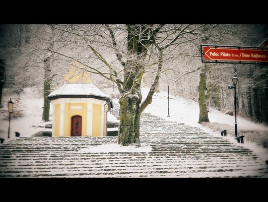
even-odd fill
[(268, 62), (267, 48), (201, 46), (202, 62)]

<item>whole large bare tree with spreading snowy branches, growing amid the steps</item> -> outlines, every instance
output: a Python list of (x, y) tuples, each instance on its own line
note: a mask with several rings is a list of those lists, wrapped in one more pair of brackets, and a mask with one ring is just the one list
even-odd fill
[[(57, 49), (47, 50), (117, 85), (121, 94), (118, 142), (138, 146), (140, 115), (152, 102), (160, 74), (168, 70), (165, 63), (176, 57), (177, 50), (181, 53), (184, 44), (211, 36), (211, 25), (51, 26), (64, 34)], [(153, 75), (153, 82), (142, 101), (140, 83), (146, 73)]]

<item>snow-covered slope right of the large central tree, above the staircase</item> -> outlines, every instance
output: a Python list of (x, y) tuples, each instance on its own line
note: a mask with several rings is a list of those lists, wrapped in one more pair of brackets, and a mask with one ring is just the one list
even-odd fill
[[(143, 88), (142, 89), (142, 99), (146, 98), (146, 95), (148, 94), (149, 89)], [(221, 128), (220, 130), (216, 130), (215, 128), (220, 128), (221, 125), (223, 126), (229, 126), (228, 129), (234, 131), (234, 123), (235, 118), (234, 116), (226, 115), (220, 111), (217, 111), (215, 109), (210, 108), (210, 112), (208, 113), (208, 118), (210, 123), (215, 123), (214, 129), (210, 129), (208, 127), (205, 127), (205, 125), (199, 124), (199, 104), (198, 102), (194, 102), (192, 100), (187, 100), (180, 97), (175, 97), (171, 94), (169, 94), (169, 115), (170, 117), (167, 117), (167, 107), (168, 107), (168, 93), (167, 92), (158, 92), (155, 93), (153, 96), (153, 101), (148, 107), (144, 110), (144, 112), (151, 113), (153, 115), (159, 116), (165, 120), (171, 120), (171, 121), (178, 121), (190, 126), (201, 128), (203, 131), (210, 133), (212, 135), (220, 136), (221, 130), (225, 128)], [(266, 136), (266, 139), (268, 139), (268, 126), (265, 126), (263, 124), (254, 123), (252, 121), (246, 120), (242, 117), (237, 117), (237, 124), (238, 124), (238, 133), (240, 130), (243, 131), (255, 131), (256, 134), (262, 134)], [(234, 139), (233, 135), (230, 135), (233, 131), (227, 131), (227, 137), (231, 142), (234, 142), (236, 144), (242, 145), (241, 143), (238, 143), (237, 140)], [(229, 133), (229, 134), (228, 134)], [(258, 145), (256, 142), (258, 140), (258, 137), (255, 134), (255, 139), (253, 139), (255, 142), (250, 141), (244, 141), (243, 146), (253, 150), (255, 153), (259, 154), (259, 156), (263, 160), (268, 160), (268, 149), (264, 148), (262, 145)], [(247, 135), (251, 135), (250, 133), (247, 133)], [(263, 138), (263, 136), (260, 135), (260, 138)]]

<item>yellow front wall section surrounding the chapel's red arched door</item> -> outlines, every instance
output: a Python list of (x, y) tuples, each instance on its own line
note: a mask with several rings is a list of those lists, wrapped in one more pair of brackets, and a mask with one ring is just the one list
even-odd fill
[[(71, 109), (72, 106), (81, 106), (81, 109)], [(65, 129), (64, 135), (71, 135), (71, 117), (79, 115), (82, 117), (82, 136), (86, 136), (86, 110), (87, 103), (66, 103), (65, 104)]]

